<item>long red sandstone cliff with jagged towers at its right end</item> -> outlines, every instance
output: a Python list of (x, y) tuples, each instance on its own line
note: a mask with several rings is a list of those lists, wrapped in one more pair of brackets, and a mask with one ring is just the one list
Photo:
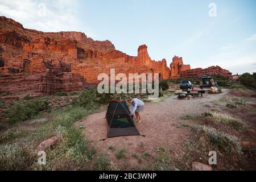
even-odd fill
[(152, 60), (147, 46), (137, 56), (115, 49), (109, 41), (88, 38), (82, 32), (42, 32), (26, 29), (0, 16), (0, 91), (53, 94), (97, 84), (100, 73), (159, 73), (160, 79), (230, 76), (220, 67), (191, 69), (175, 56), (170, 68), (166, 59)]

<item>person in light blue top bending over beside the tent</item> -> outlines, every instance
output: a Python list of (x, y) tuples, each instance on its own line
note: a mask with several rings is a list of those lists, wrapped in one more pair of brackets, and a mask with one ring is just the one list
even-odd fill
[(129, 98), (128, 102), (131, 104), (131, 115), (136, 115), (137, 123), (141, 123), (141, 113), (144, 110), (144, 102), (139, 100), (138, 98)]

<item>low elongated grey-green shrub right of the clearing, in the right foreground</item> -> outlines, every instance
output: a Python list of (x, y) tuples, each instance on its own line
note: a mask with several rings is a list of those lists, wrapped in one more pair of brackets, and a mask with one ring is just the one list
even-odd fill
[(191, 126), (191, 131), (196, 135), (203, 135), (209, 139), (210, 144), (227, 155), (241, 153), (241, 146), (237, 137), (220, 133), (213, 128), (205, 126)]

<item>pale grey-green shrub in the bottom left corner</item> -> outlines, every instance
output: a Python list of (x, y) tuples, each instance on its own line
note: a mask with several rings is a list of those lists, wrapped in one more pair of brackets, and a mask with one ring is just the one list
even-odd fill
[(31, 166), (31, 156), (18, 144), (0, 145), (0, 170), (25, 170)]

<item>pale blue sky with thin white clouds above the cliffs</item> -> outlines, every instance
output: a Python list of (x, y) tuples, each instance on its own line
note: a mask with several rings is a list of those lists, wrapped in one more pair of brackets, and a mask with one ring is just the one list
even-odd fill
[(81, 31), (131, 56), (256, 72), (255, 0), (0, 0), (0, 15), (40, 31)]

